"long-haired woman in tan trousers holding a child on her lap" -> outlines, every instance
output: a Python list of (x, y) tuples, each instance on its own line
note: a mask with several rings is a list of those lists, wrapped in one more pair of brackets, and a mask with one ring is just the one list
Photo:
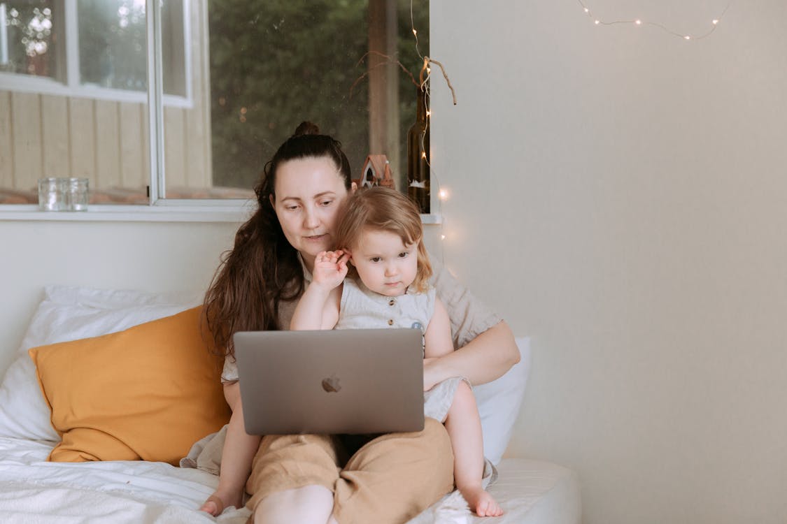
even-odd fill
[[(338, 213), (354, 189), (338, 141), (301, 123), (266, 164), (255, 188), (259, 208), (238, 229), (235, 247), (205, 295), (216, 346), (226, 348), (222, 381), (232, 409), (219, 487), (205, 511), (216, 515), (224, 505), (238, 505), (247, 475), (247, 505), (260, 524), (405, 522), (453, 489), (449, 438), (434, 420), (427, 419), (421, 432), (370, 442), (320, 435), (266, 436), (260, 442), (243, 427), (231, 336), (289, 326), (316, 255), (334, 247)], [(445, 269), (433, 266), (433, 284), (461, 349), (424, 362), (424, 390), (453, 376), (476, 384), (496, 379), (519, 360), (511, 330)]]

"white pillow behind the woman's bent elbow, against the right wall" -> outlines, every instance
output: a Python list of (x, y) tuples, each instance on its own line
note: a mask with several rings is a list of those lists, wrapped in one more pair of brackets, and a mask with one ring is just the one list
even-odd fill
[(521, 359), (508, 372), (490, 383), (473, 387), (484, 434), (484, 456), (497, 464), (503, 458), (514, 431), (530, 375), (530, 338), (516, 339)]

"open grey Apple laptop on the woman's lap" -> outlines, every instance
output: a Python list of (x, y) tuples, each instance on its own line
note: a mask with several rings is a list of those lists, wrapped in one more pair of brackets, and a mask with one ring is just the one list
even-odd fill
[(248, 434), (423, 430), (419, 329), (233, 335)]

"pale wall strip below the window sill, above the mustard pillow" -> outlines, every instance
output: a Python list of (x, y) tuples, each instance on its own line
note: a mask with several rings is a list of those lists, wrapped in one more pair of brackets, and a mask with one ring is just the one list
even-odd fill
[(46, 284), (205, 290), (237, 228), (229, 222), (0, 221), (0, 370), (13, 360)]

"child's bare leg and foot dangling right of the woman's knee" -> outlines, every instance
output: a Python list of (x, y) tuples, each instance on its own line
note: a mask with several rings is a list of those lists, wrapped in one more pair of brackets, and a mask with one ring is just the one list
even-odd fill
[(497, 500), (481, 486), (484, 474), (481, 419), (475, 405), (475, 396), (464, 381), (456, 388), (453, 404), (445, 419), (445, 430), (448, 431), (453, 447), (456, 489), (459, 489), (470, 509), (479, 517), (503, 515), (503, 509), (497, 504)]

